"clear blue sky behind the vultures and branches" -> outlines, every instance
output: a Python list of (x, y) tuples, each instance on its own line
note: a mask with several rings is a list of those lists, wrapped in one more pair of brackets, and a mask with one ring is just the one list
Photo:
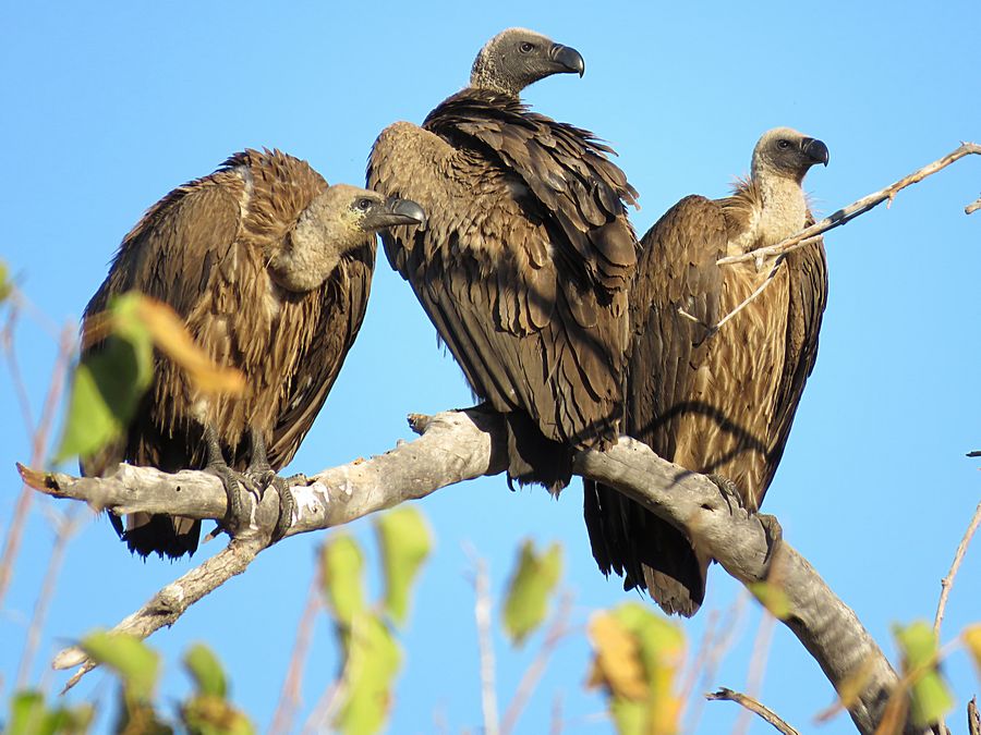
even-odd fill
[[(977, 7), (946, 3), (7, 3), (0, 11), (0, 257), (23, 291), (59, 322), (74, 321), (121, 237), (175, 185), (213, 171), (243, 147), (305, 158), (330, 182), (363, 181), (378, 132), (420, 122), (463, 86), (483, 42), (523, 25), (579, 49), (582, 79), (559, 76), (526, 99), (595, 131), (619, 151), (641, 193), (640, 232), (690, 193), (722, 196), (747, 172), (759, 135), (791, 125), (822, 138), (831, 166), (808, 177), (828, 213), (952, 150), (981, 139)], [(940, 578), (979, 500), (981, 347), (978, 274), (981, 160), (965, 160), (827, 236), (831, 297), (821, 353), (780, 471), (766, 498), (803, 552), (892, 654), (889, 626), (931, 618)], [(16, 350), (35, 412), (50, 375), (49, 336), (25, 319)], [(371, 455), (408, 438), (404, 416), (470, 404), (459, 369), (384, 257), (361, 336), (293, 468), (307, 473)], [(29, 456), (13, 388), (0, 369), (0, 527), (20, 491), (15, 461)], [(438, 548), (403, 638), (407, 665), (392, 732), (479, 726), (473, 591), (464, 546), (488, 561), (499, 593), (519, 542), (560, 540), (577, 620), (637, 599), (605, 580), (590, 555), (576, 482), (558, 502), (511, 493), (501, 478), (451, 488), (421, 506)], [(21, 563), (0, 612), (0, 697), (21, 657), (51, 532), (36, 503)], [(62, 504), (63, 507), (63, 504)], [(372, 541), (366, 523), (349, 530)], [(196, 605), (152, 642), (164, 651), (166, 697), (186, 689), (177, 663), (206, 639), (230, 669), (233, 695), (268, 725), (327, 534), (264, 553), (244, 576)], [(215, 546), (204, 547), (195, 562)], [(69, 549), (35, 676), (64, 641), (108, 626), (186, 563), (130, 558), (105, 518)], [(950, 598), (945, 638), (981, 620), (981, 548)], [(714, 567), (705, 611), (740, 588)], [(741, 688), (759, 611), (747, 605), (738, 642), (711, 686)], [(710, 615), (685, 624), (700, 639)], [(532, 641), (532, 647), (537, 639)], [(499, 697), (530, 652), (498, 641)], [(604, 733), (583, 718), (602, 709), (582, 684), (588, 651), (566, 642), (521, 722), (543, 732), (564, 693), (568, 732)], [(962, 721), (978, 679), (962, 653), (946, 667)], [(336, 673), (329, 629), (317, 628), (304, 712)], [(90, 675), (73, 698), (110, 690)], [(779, 628), (761, 698), (800, 728), (832, 701), (818, 665)], [(700, 732), (731, 728), (737, 708), (704, 706)], [(753, 724), (751, 732), (770, 732)], [(822, 732), (848, 733), (838, 720)]]

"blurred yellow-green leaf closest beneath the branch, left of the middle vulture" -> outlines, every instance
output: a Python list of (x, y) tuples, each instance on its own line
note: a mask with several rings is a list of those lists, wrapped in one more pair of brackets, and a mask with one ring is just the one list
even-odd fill
[(375, 530), (382, 548), (385, 609), (401, 625), (409, 614), (412, 584), (433, 549), (433, 536), (422, 513), (407, 506), (382, 515)]

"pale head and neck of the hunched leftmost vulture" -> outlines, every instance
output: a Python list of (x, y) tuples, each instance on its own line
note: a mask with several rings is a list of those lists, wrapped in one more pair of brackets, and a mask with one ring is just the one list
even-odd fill
[(364, 245), (377, 230), (425, 221), (422, 207), (414, 201), (335, 184), (300, 213), (291, 236), (268, 247), (269, 270), (283, 289), (312, 291), (327, 280), (344, 255)]

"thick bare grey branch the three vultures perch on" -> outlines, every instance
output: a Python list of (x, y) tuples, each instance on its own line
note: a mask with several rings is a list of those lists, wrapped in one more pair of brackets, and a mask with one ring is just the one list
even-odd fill
[[(498, 417), (476, 409), (447, 412), (416, 417), (413, 425), (423, 431), (422, 438), (380, 456), (324, 470), (312, 478), (310, 486), (291, 488), (296, 502), (288, 535), (348, 523), (423, 498), (447, 485), (504, 470), (505, 437)], [(43, 492), (85, 500), (116, 513), (146, 511), (220, 518), (226, 511), (220, 482), (204, 473), (168, 476), (125, 465), (106, 479), (26, 468), (21, 473)], [(855, 613), (806, 559), (780, 540), (772, 516), (750, 515), (730, 505), (731, 500), (712, 480), (662, 460), (645, 444), (629, 438), (620, 439), (607, 452), (581, 452), (576, 473), (617, 488), (698, 538), (700, 546), (743, 584), (767, 579), (771, 568), (777, 566), (778, 583), (791, 609), (784, 624), (835, 687), (856, 672), (867, 673), (862, 693), (848, 702), (848, 709), (860, 732), (875, 730), (899, 678)], [(272, 494), (266, 493), (256, 509), (256, 528), (251, 529), (254, 534), (240, 535), (228, 549), (168, 585), (117, 629), (149, 635), (172, 624), (190, 604), (244, 571), (267, 543), (267, 529), (275, 523), (277, 506)], [(69, 666), (83, 662), (76, 651), (73, 657), (60, 654), (56, 663)]]

